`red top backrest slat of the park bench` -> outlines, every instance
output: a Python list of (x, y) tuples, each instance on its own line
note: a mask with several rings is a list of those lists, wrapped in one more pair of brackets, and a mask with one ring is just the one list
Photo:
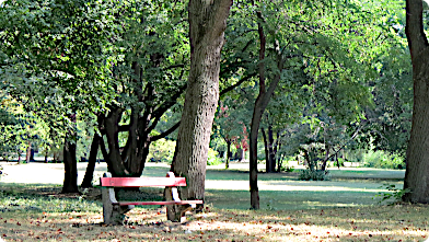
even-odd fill
[(185, 177), (101, 177), (102, 186), (151, 187), (186, 186)]

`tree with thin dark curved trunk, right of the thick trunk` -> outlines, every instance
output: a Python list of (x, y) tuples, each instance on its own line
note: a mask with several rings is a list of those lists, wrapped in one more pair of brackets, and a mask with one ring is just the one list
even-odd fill
[[(385, 30), (381, 21), (385, 18), (382, 7), (378, 7), (379, 2), (260, 1), (252, 5), (242, 2), (237, 4), (240, 9), (236, 12), (234, 9), (234, 19), (243, 14), (247, 18), (243, 22), (253, 23), (234, 27), (235, 32), (241, 33), (236, 34), (235, 39), (236, 43), (243, 43), (241, 49), (252, 53), (247, 56), (257, 60), (253, 69), (258, 70), (258, 79), (254, 80), (257, 84), (254, 87), (259, 93), (255, 95), (250, 141), (251, 204), (257, 208), (258, 128), (278, 83), (288, 79), (302, 81), (302, 89), (306, 89), (311, 96), (308, 107), (314, 111), (324, 108), (318, 97), (328, 101), (329, 105), (335, 103), (329, 89), (335, 89), (336, 82), (344, 90), (347, 90), (346, 87), (352, 88), (348, 92), (352, 94), (350, 97), (360, 99), (348, 105), (344, 100), (338, 106), (344, 111), (347, 111), (346, 106), (352, 107), (348, 113), (341, 112), (341, 115), (350, 117), (348, 119), (361, 118), (364, 105), (356, 104), (370, 97), (370, 88), (366, 81), (376, 76), (372, 59), (384, 48), (381, 43), (385, 42)], [(250, 15), (250, 12), (255, 14)], [(243, 42), (243, 36), (250, 35), (253, 42)], [(258, 44), (258, 48), (255, 48), (254, 43)], [(244, 59), (243, 56), (237, 55), (240, 59)], [(240, 62), (241, 67), (246, 68), (243, 62)], [(248, 69), (246, 71), (250, 72)], [(298, 79), (297, 74), (306, 76), (306, 80), (294, 80)], [(329, 112), (336, 114), (334, 105)]]

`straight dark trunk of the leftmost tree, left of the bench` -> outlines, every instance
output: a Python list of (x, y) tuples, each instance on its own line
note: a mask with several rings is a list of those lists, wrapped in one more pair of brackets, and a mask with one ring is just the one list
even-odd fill
[[(76, 114), (70, 115), (70, 119), (76, 127)], [(76, 141), (76, 130), (69, 130), (66, 134), (63, 147), (65, 181), (61, 193), (79, 193)]]

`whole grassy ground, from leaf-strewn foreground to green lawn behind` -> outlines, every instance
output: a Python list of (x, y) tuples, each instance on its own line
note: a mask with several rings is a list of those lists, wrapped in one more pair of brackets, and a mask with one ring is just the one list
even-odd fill
[[(40, 164), (43, 165), (43, 164)], [(357, 174), (364, 174), (357, 172)], [(368, 170), (368, 172), (374, 172)], [(375, 171), (379, 172), (379, 171)], [(165, 166), (144, 175), (164, 176)], [(345, 172), (347, 173), (347, 172)], [(353, 174), (352, 172), (348, 172)], [(38, 174), (45, 174), (43, 172)], [(429, 207), (378, 205), (384, 183), (398, 180), (298, 181), (293, 174), (260, 174), (260, 210), (248, 210), (248, 173), (208, 170), (206, 209), (185, 224), (166, 221), (164, 208), (137, 207), (125, 226), (102, 224), (98, 188), (61, 195), (55, 184), (0, 183), (3, 241), (426, 241)], [(161, 189), (147, 192), (154, 199)]]

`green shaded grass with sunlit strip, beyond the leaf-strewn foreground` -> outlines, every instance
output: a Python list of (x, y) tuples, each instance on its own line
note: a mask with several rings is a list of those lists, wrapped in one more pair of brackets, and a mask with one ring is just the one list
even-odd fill
[[(169, 168), (148, 166), (144, 176), (163, 176)], [(258, 186), (262, 209), (298, 210), (313, 208), (376, 205), (379, 193), (389, 193), (383, 184), (401, 188), (401, 171), (334, 170), (332, 181), (299, 181), (298, 173), (260, 173)], [(378, 178), (380, 175), (381, 178)], [(387, 177), (387, 178), (386, 178)], [(220, 209), (248, 209), (248, 172), (207, 170), (206, 203)], [(232, 203), (233, 201), (233, 203)], [(392, 203), (386, 200), (384, 204)]]

